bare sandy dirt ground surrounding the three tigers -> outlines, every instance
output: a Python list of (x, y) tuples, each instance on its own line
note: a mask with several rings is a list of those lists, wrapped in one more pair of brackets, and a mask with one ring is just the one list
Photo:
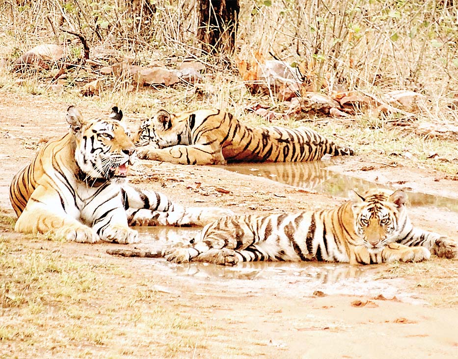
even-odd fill
[[(66, 132), (64, 115), (68, 103), (32, 95), (0, 95), (0, 208), (3, 215), (13, 217), (9, 183), (40, 144)], [(85, 115), (103, 113), (89, 102), (81, 104), (80, 109)], [(128, 113), (125, 116), (134, 127), (139, 117)], [(328, 169), (384, 185), (402, 183), (433, 197), (458, 199), (456, 181), (440, 172), (409, 168), (402, 160), (393, 167), (377, 156), (356, 155), (335, 159), (329, 162)], [(184, 205), (222, 206), (237, 213), (329, 207), (345, 200), (216, 166), (142, 161), (132, 172), (133, 183), (162, 191)], [(458, 219), (449, 209), (431, 211), (430, 207), (416, 206), (410, 213), (414, 224), (458, 238)], [(54, 242), (14, 233), (6, 225), (2, 225), (1, 235), (43, 251), (52, 252), (56, 246)], [(136, 246), (142, 245), (148, 246), (147, 243)], [(426, 280), (422, 277), (424, 271), (406, 269), (417, 268), (417, 264), (403, 265), (405, 275), (398, 278), (393, 278), (393, 267), (388, 265), (278, 267), (267, 263), (234, 270), (106, 253), (108, 248), (118, 247), (107, 243), (63, 243), (59, 251), (64, 257), (109, 263), (135, 273), (134, 280), (119, 276), (113, 278), (113, 289), (102, 288), (108, 298), (117, 293), (115, 287), (135, 291), (139, 278), (154, 282), (163, 310), (190, 315), (199, 323), (193, 330), (199, 344), (205, 343), (169, 355), (164, 350), (156, 353), (154, 347), (133, 346), (126, 355), (116, 352), (123, 358), (457, 358), (458, 355), (457, 306), (440, 303), (440, 297), (431, 305), (438, 287), (421, 285)], [(124, 248), (131, 247), (134, 246)], [(432, 258), (431, 262), (457, 276), (458, 261)], [(306, 273), (311, 270), (316, 273), (312, 279)], [(7, 309), (2, 309), (2, 313), (0, 327), (12, 320)], [(109, 357), (105, 355), (117, 346), (128, 346), (126, 341), (131, 337), (143, 335), (140, 327), (129, 328), (130, 332), (120, 336), (119, 342), (110, 342), (109, 348), (92, 347), (92, 357)], [(212, 335), (207, 335), (209, 332)], [(19, 341), (1, 344), (0, 354), (5, 358), (25, 357)], [(47, 358), (69, 358), (81, 353), (77, 349), (56, 350), (55, 345), (38, 343), (30, 349), (28, 357), (40, 354)]]

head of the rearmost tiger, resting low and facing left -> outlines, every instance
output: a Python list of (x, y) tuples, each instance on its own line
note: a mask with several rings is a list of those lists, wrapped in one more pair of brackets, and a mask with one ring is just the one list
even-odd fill
[(142, 121), (134, 135), (135, 146), (149, 145), (153, 148), (166, 148), (179, 144), (189, 145), (189, 114), (176, 116), (165, 110)]

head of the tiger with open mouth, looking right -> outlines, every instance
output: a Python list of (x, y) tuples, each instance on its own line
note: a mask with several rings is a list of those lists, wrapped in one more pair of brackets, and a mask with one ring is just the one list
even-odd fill
[(121, 122), (122, 111), (112, 108), (108, 118), (83, 120), (74, 106), (67, 109), (66, 120), (75, 141), (75, 160), (83, 177), (111, 180), (126, 177), (133, 164), (134, 143)]

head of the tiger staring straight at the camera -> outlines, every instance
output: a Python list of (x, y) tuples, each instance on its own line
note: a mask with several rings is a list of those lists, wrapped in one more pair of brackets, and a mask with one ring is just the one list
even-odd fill
[(370, 190), (363, 195), (350, 191), (354, 231), (369, 253), (380, 253), (406, 223), (406, 194), (402, 190)]

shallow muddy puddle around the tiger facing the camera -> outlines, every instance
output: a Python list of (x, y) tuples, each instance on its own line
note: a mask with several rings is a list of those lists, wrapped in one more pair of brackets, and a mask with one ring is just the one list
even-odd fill
[[(141, 243), (135, 245), (148, 251), (160, 252), (164, 247), (183, 246), (200, 232), (199, 228), (137, 227)], [(170, 275), (186, 276), (199, 283), (211, 280), (216, 285), (251, 295), (288, 297), (312, 296), (314, 292), (346, 295), (383, 295), (414, 303), (418, 301), (405, 291), (401, 279), (387, 279), (384, 265), (352, 266), (346, 263), (317, 262), (251, 262), (235, 267), (190, 262), (174, 264), (162, 258), (138, 258)], [(277, 295), (275, 294), (275, 295)]]

